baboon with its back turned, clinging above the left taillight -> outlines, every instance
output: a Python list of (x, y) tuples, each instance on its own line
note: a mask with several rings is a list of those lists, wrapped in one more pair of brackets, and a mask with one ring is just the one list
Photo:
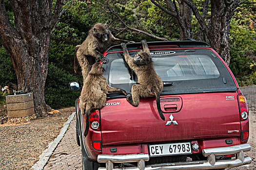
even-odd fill
[(102, 76), (105, 69), (100, 63), (95, 63), (83, 81), (80, 95), (79, 107), (81, 114), (86, 114), (85, 135), (89, 132), (89, 113), (94, 109), (101, 109), (106, 102), (107, 94), (123, 93), (126, 91), (120, 88), (111, 87), (107, 84), (106, 78)]

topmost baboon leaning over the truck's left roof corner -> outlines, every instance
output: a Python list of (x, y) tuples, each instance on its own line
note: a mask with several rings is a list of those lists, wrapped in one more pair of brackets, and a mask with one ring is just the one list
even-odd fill
[(129, 43), (134, 41), (127, 41), (114, 37), (106, 24), (97, 23), (89, 31), (87, 38), (81, 45), (76, 46), (76, 56), (74, 62), (75, 72), (79, 72), (78, 63), (82, 68), (83, 79), (86, 78), (92, 66), (96, 60), (100, 60), (103, 64), (107, 62), (107, 59), (102, 54), (108, 45), (117, 45), (121, 43)]

